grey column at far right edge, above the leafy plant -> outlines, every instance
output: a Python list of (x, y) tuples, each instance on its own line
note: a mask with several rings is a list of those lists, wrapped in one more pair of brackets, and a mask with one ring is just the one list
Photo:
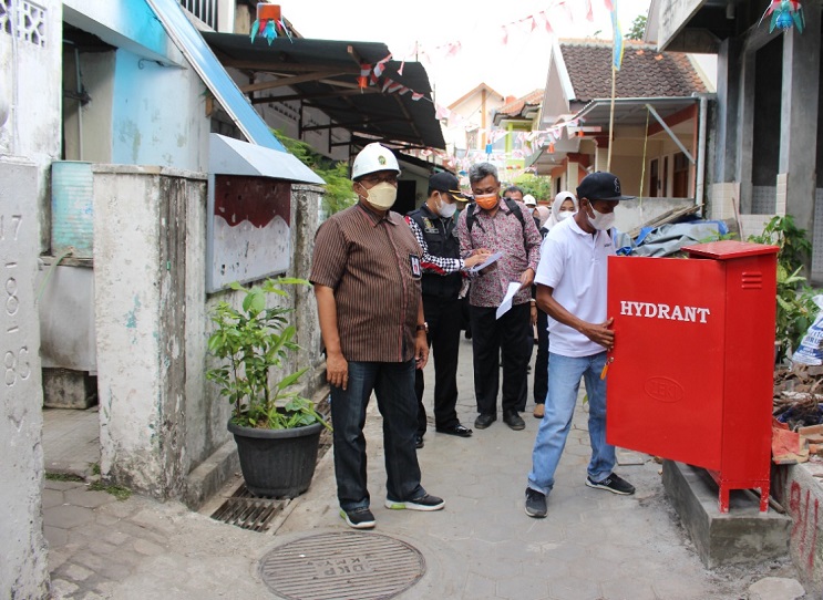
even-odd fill
[[(804, 2), (806, 28), (783, 35), (780, 174), (786, 175), (786, 213), (813, 230), (820, 93), (820, 2)], [(811, 234), (810, 234), (811, 235)]]

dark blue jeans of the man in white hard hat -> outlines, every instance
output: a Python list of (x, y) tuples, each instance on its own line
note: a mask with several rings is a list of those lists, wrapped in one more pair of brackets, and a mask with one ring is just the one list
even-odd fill
[(331, 424), (335, 427), (335, 475), (340, 508), (369, 506), (366, 482), (366, 408), (372, 391), (383, 415), (387, 497), (404, 501), (425, 494), (414, 447), (418, 399), (414, 361), (349, 362), (348, 389), (331, 386)]

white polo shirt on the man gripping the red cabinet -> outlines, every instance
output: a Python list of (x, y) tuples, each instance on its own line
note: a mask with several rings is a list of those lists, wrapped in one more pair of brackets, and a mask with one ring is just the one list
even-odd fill
[[(579, 228), (574, 218), (548, 231), (541, 247), (534, 282), (554, 289), (557, 302), (589, 323), (606, 321), (608, 257), (615, 247), (608, 231), (596, 236)], [(548, 350), (563, 356), (590, 356), (606, 350), (583, 333), (548, 318)]]

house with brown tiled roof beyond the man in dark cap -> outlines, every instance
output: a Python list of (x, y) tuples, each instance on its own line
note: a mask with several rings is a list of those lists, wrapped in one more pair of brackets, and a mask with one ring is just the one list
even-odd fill
[(618, 175), (624, 193), (645, 203), (627, 203), (631, 213), (618, 215), (618, 228), (628, 231), (673, 207), (702, 204), (701, 132), (713, 96), (688, 55), (625, 44), (613, 107), (611, 42), (555, 41), (538, 125), (555, 139), (528, 163), (553, 177), (555, 193), (574, 190), (594, 170)]

